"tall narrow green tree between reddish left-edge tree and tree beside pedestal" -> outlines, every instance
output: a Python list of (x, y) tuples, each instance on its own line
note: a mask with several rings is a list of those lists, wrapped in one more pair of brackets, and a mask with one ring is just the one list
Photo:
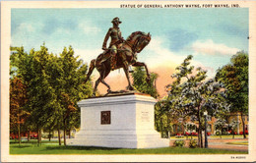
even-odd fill
[(55, 89), (49, 82), (52, 78), (47, 71), (51, 55), (45, 45), (32, 54), (32, 80), (30, 81), (30, 105), (32, 108), (32, 123), (36, 124), (38, 144), (41, 140), (41, 130), (54, 120), (54, 109), (58, 107)]

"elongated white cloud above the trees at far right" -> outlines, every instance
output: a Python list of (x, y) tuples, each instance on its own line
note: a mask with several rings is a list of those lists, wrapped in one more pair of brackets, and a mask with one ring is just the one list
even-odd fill
[(215, 43), (212, 39), (206, 41), (198, 40), (193, 43), (192, 49), (196, 53), (205, 54), (205, 55), (233, 55), (239, 49), (228, 47), (221, 43)]

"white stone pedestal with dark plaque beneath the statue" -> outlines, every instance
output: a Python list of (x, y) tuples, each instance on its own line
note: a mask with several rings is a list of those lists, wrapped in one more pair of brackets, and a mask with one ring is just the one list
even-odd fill
[(68, 145), (116, 148), (169, 146), (154, 127), (156, 99), (147, 94), (128, 93), (82, 100), (81, 130)]

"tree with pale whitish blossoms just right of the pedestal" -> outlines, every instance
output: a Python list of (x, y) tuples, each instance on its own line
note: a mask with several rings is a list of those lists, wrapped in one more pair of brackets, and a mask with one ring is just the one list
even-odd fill
[(174, 81), (166, 85), (168, 96), (164, 108), (177, 118), (195, 118), (199, 124), (198, 145), (203, 147), (204, 111), (220, 114), (228, 111), (228, 105), (224, 100), (224, 85), (211, 79), (206, 81), (207, 72), (201, 68), (194, 71), (190, 66), (192, 57), (189, 55), (176, 68), (177, 73), (171, 76)]

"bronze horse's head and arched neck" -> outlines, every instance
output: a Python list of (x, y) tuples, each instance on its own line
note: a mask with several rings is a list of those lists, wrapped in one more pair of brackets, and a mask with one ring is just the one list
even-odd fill
[(133, 46), (133, 51), (140, 53), (151, 41), (151, 34), (141, 31), (133, 32), (127, 39)]

